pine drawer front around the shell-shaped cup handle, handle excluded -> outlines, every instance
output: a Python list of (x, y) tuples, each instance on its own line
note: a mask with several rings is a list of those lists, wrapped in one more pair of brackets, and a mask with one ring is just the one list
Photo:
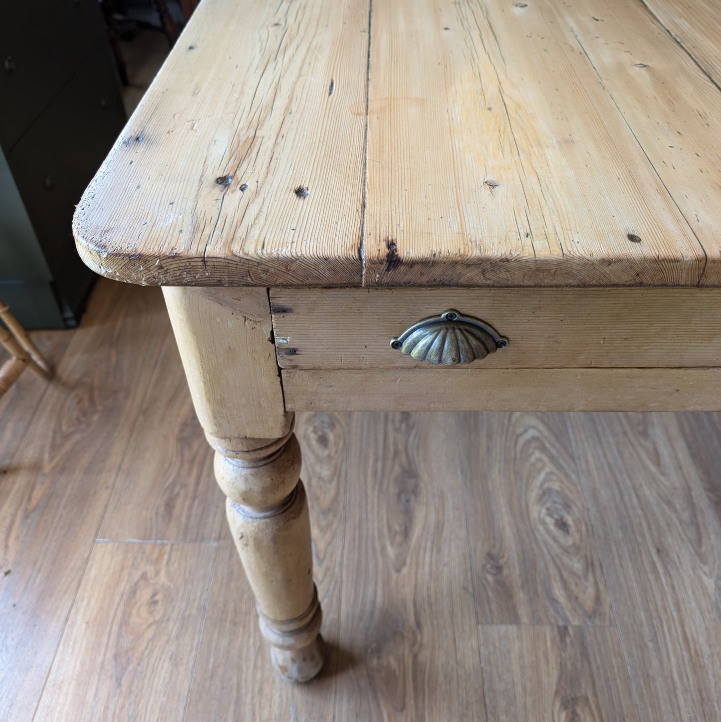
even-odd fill
[[(412, 324), (453, 309), (508, 339), (470, 366), (445, 368), (390, 347)], [(278, 362), (288, 370), (715, 367), (716, 289), (271, 290)]]

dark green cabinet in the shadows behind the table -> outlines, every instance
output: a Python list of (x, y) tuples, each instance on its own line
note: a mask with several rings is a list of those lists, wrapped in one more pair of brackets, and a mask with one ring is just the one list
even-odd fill
[(93, 275), (72, 214), (125, 121), (97, 1), (0, 1), (0, 58), (0, 298), (73, 326)]

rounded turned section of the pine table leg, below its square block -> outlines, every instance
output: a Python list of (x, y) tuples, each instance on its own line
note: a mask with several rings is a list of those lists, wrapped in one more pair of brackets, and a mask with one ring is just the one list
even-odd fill
[(273, 663), (284, 677), (306, 682), (323, 659), (308, 505), (299, 474), (293, 433), (215, 457), (215, 476), (228, 497), (228, 523)]

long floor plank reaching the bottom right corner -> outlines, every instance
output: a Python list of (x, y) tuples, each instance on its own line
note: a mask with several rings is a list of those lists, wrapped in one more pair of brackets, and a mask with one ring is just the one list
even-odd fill
[(673, 417), (572, 414), (642, 719), (721, 718), (721, 538)]

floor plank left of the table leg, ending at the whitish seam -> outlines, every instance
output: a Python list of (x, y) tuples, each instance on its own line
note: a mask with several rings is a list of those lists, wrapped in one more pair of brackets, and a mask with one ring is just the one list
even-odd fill
[(217, 541), (223, 505), (213, 450), (168, 334), (98, 534), (115, 540)]

